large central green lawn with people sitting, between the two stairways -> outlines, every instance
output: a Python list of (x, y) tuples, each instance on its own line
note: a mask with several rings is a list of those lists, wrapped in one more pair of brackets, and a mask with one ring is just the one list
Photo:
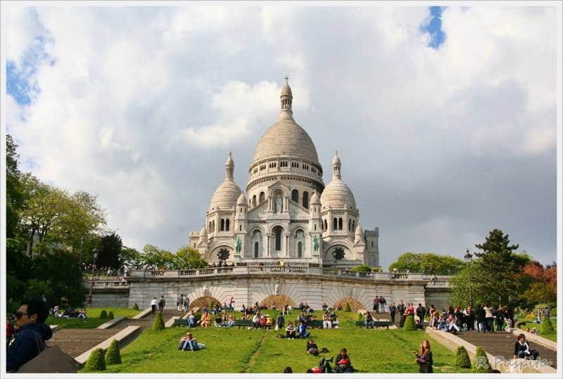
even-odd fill
[[(327, 347), (329, 357), (341, 347), (348, 349), (353, 366), (360, 373), (417, 373), (418, 366), (411, 350), (419, 349), (429, 339), (434, 352), (436, 373), (469, 373), (469, 369), (453, 367), (454, 353), (428, 338), (422, 331), (366, 330), (353, 326), (357, 314), (337, 312), (341, 328), (313, 329), (312, 338), (319, 348)], [(270, 314), (273, 314), (270, 311)], [(296, 316), (286, 316), (293, 320)], [(239, 316), (237, 312), (237, 316)], [(317, 366), (321, 356), (305, 353), (305, 340), (277, 338), (275, 330), (244, 328), (194, 328), (194, 337), (206, 345), (198, 352), (177, 349), (185, 327), (160, 332), (145, 330), (131, 345), (122, 349), (122, 364), (108, 366), (112, 373), (281, 373), (286, 366), (304, 373)]]

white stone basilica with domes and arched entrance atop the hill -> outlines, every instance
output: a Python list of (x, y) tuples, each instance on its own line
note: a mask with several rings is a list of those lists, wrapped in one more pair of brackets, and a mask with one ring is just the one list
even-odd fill
[(210, 263), (308, 262), (350, 268), (379, 266), (379, 230), (362, 231), (354, 195), (341, 177), (338, 153), (324, 186), (317, 149), (293, 120), (291, 88), (281, 89), (281, 112), (254, 150), (246, 193), (225, 178), (213, 193), (205, 226), (189, 244)]

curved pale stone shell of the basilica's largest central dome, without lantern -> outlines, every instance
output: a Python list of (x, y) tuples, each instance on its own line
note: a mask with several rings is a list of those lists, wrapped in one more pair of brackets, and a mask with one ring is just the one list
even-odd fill
[(319, 163), (317, 149), (307, 132), (291, 118), (280, 118), (264, 133), (254, 149), (254, 162), (279, 156)]

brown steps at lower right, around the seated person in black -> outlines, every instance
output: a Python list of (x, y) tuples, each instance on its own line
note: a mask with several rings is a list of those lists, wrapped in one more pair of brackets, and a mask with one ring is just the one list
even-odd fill
[[(493, 356), (502, 356), (505, 359), (512, 359), (514, 356), (514, 342), (517, 342), (516, 335), (512, 333), (479, 333), (475, 330), (468, 330), (457, 335), (457, 337), (466, 340), (467, 342), (481, 346), (486, 352)], [(538, 345), (537, 343), (530, 342), (531, 349), (538, 349), (540, 352), (540, 359), (547, 359), (552, 361), (552, 367), (557, 368), (557, 352), (547, 347)]]

